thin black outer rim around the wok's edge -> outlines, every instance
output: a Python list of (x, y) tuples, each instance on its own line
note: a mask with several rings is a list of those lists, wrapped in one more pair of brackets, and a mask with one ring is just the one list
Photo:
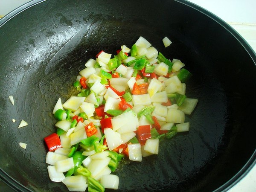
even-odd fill
[[(35, 6), (44, 1), (46, 0), (31, 0), (28, 3), (23, 4), (22, 6), (18, 7), (17, 9), (13, 10), (12, 12), (5, 15), (2, 19), (0, 19), (0, 27), (3, 26), (5, 23), (7, 23), (16, 15), (23, 12), (24, 10), (29, 9), (30, 7)], [(221, 27), (226, 29), (230, 33), (230, 35), (233, 35), (233, 37), (236, 38), (236, 40), (244, 47), (244, 49), (250, 55), (250, 58), (253, 60), (256, 66), (256, 52), (252, 49), (252, 47), (250, 47), (247, 41), (245, 41), (244, 38), (238, 32), (236, 32), (236, 30), (233, 29), (233, 27), (231, 27), (228, 23), (226, 23), (224, 20), (214, 15), (213, 13), (202, 8), (201, 6), (196, 5), (195, 3), (191, 3), (187, 0), (174, 0), (174, 1), (181, 3), (185, 6), (189, 6), (192, 9), (195, 9), (201, 12), (202, 14), (206, 15), (210, 19), (220, 24)], [(228, 180), (226, 183), (221, 185), (218, 189), (215, 189), (214, 192), (227, 192), (229, 189), (231, 189), (233, 186), (239, 183), (253, 169), (254, 166), (256, 166), (256, 149), (254, 150), (252, 156), (249, 158), (247, 163), (245, 163), (245, 165), (239, 170), (239, 172), (237, 172), (236, 175), (234, 175), (230, 180)], [(21, 183), (19, 183), (17, 180), (12, 178), (9, 174), (7, 174), (1, 168), (0, 168), (0, 180), (2, 180), (12, 189), (15, 189), (17, 191), (32, 192), (32, 190), (28, 189), (26, 186), (23, 186)]]

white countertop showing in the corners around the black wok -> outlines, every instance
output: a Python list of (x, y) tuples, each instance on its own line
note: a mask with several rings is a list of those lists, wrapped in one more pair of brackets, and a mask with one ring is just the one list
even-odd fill
[[(30, 0), (0, 0), (0, 17)], [(188, 0), (229, 23), (256, 52), (256, 0)], [(256, 192), (256, 166), (228, 192)]]

